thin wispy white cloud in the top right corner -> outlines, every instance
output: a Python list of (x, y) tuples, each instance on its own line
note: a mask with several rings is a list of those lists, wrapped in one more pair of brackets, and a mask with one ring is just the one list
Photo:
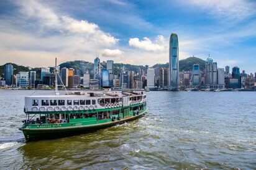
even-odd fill
[(214, 17), (242, 20), (255, 14), (255, 2), (246, 0), (190, 0), (193, 5), (209, 11)]

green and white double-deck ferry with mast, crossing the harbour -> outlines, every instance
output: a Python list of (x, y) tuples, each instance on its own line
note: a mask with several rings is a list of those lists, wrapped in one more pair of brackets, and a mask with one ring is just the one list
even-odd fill
[[(57, 82), (57, 67), (55, 77)], [(19, 130), (26, 140), (66, 137), (132, 121), (146, 112), (145, 91), (106, 88), (60, 95), (55, 85), (55, 95), (25, 96), (26, 119)]]

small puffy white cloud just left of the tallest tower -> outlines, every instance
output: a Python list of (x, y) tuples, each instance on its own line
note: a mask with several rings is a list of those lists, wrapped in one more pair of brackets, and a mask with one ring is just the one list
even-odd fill
[(129, 45), (146, 51), (162, 51), (165, 49), (165, 46), (162, 45), (164, 41), (165, 40), (162, 35), (157, 37), (156, 43), (153, 43), (147, 37), (144, 37), (143, 40), (140, 40), (139, 38), (130, 38)]

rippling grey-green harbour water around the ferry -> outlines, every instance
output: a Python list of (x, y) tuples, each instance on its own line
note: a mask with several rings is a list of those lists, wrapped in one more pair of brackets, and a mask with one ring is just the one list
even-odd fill
[(147, 116), (94, 133), (25, 142), (24, 96), (0, 91), (0, 169), (254, 169), (256, 93), (147, 93)]

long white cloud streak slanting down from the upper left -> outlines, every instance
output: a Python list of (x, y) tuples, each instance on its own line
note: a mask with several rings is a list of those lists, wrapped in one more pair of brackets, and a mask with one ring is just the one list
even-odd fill
[(58, 15), (50, 7), (37, 1), (19, 1), (21, 12), (25, 16), (38, 19), (40, 26), (59, 30), (60, 32), (77, 33), (90, 41), (98, 41), (106, 46), (115, 45), (119, 40), (103, 32), (95, 23), (87, 20), (76, 20), (67, 15)]

